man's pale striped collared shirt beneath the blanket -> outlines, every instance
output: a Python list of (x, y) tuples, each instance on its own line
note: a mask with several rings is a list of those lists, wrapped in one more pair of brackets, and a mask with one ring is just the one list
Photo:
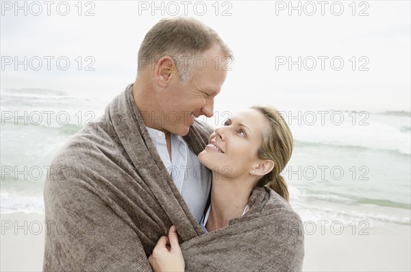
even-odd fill
[(173, 178), (190, 212), (200, 221), (211, 188), (210, 171), (197, 159), (182, 136), (170, 134), (171, 160), (164, 132), (146, 127), (164, 166)]

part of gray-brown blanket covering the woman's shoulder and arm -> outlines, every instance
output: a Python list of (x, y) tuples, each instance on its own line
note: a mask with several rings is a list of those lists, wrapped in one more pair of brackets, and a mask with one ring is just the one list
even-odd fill
[(229, 226), (182, 243), (186, 271), (301, 271), (301, 219), (270, 188), (255, 188), (250, 210)]

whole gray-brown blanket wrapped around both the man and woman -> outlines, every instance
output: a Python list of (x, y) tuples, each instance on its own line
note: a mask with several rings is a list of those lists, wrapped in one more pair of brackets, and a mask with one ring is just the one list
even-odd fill
[[(184, 139), (198, 154), (209, 135), (196, 122)], [(44, 197), (44, 271), (151, 271), (147, 256), (171, 225), (187, 271), (301, 270), (301, 221), (268, 188), (253, 191), (244, 217), (203, 234), (155, 151), (132, 85), (55, 156)]]

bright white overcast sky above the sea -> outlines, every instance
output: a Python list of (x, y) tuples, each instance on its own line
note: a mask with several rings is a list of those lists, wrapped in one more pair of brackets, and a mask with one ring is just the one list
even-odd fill
[[(234, 51), (216, 109), (269, 101), (282, 109), (410, 110), (410, 1), (292, 1), (294, 10), (289, 1), (51, 2), (19, 1), (18, 9), (1, 1), (1, 90), (47, 88), (108, 101), (134, 82), (145, 33), (161, 18), (188, 15)], [(25, 56), (27, 71), (14, 66)], [(299, 57), (301, 71), (289, 69)]]

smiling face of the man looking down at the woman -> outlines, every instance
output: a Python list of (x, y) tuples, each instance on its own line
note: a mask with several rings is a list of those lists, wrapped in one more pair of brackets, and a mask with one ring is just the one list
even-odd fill
[(227, 77), (223, 52), (220, 47), (208, 49), (197, 63), (190, 79), (184, 84), (179, 80), (179, 73), (171, 79), (169, 86), (159, 100), (164, 109), (163, 129), (172, 134), (184, 136), (194, 123), (195, 117), (211, 117), (214, 112), (214, 97), (219, 94)]

